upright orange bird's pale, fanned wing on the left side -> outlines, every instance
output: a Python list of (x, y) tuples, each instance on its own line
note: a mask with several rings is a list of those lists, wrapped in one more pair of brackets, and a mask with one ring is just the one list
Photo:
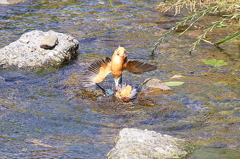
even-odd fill
[(88, 71), (84, 73), (81, 83), (83, 87), (90, 87), (95, 83), (102, 82), (104, 78), (111, 72), (111, 59), (101, 59), (93, 62)]

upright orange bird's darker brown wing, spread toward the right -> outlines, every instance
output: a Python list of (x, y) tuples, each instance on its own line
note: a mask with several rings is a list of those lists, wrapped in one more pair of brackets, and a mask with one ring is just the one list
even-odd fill
[(128, 61), (123, 65), (124, 70), (128, 70), (129, 72), (132, 73), (143, 73), (143, 72), (148, 72), (148, 71), (153, 71), (157, 69), (157, 66), (133, 60), (133, 61)]

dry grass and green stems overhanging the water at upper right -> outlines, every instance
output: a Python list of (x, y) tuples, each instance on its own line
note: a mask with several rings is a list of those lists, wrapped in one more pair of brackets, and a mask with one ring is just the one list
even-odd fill
[[(154, 45), (151, 55), (154, 55), (154, 51), (156, 50), (157, 46), (161, 44), (164, 38), (171, 34), (174, 30), (178, 27), (186, 25), (188, 23), (188, 27), (180, 33), (180, 35), (184, 34), (188, 31), (196, 22), (198, 22), (201, 18), (206, 16), (207, 14), (218, 14), (221, 19), (217, 21), (213, 21), (211, 26), (203, 30), (203, 33), (198, 37), (197, 41), (192, 44), (189, 52), (193, 51), (196, 46), (200, 43), (201, 40), (212, 43), (204, 39), (208, 32), (212, 31), (215, 27), (222, 27), (225, 26), (225, 22), (229, 21), (237, 21), (240, 26), (240, 3), (239, 0), (171, 0), (160, 2), (158, 5), (158, 9), (161, 12), (167, 12), (169, 10), (175, 11), (175, 15), (181, 12), (182, 8), (187, 8), (189, 11), (192, 12), (192, 15), (185, 17), (182, 21), (177, 22), (175, 26), (165, 32)], [(230, 41), (231, 39), (240, 35), (239, 31), (240, 27), (237, 28), (236, 33), (233, 35), (216, 42), (215, 45), (218, 46), (222, 43)]]

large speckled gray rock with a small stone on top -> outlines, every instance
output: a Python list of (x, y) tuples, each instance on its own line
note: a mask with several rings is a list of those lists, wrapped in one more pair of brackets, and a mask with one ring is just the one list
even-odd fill
[(57, 67), (75, 57), (78, 46), (78, 40), (70, 35), (34, 30), (0, 49), (0, 66), (30, 69)]

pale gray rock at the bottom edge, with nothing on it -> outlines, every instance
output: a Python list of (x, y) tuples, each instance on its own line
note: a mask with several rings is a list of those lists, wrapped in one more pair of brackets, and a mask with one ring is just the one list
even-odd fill
[(189, 143), (154, 131), (124, 128), (108, 159), (166, 159), (188, 154)]

